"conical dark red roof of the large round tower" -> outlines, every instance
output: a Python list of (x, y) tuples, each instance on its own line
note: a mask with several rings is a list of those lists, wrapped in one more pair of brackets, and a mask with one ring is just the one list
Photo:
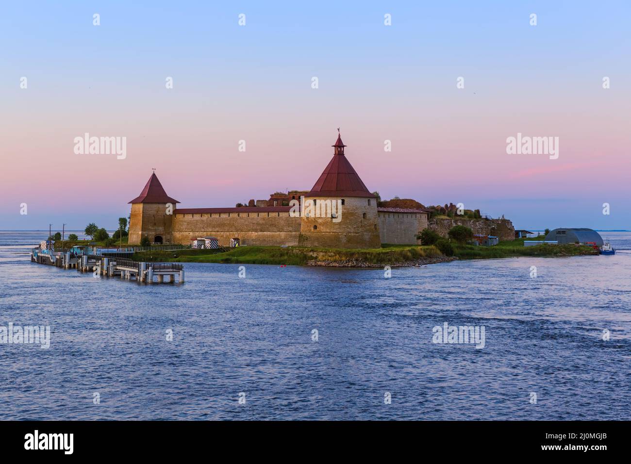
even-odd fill
[(320, 178), (315, 182), (311, 191), (305, 196), (360, 196), (374, 198), (374, 195), (363, 184), (355, 169), (351, 166), (348, 159), (344, 155), (343, 150), (338, 147), (344, 147), (341, 137), (338, 135), (336, 141), (336, 154), (326, 168)]

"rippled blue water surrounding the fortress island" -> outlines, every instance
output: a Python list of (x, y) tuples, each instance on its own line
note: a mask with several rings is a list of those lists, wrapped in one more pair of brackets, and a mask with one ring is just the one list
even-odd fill
[[(630, 232), (601, 234), (615, 256), (186, 263), (182, 285), (30, 263), (47, 235), (0, 232), (0, 326), (50, 326), (0, 344), (5, 420), (631, 419)], [(484, 347), (432, 343), (444, 323)]]

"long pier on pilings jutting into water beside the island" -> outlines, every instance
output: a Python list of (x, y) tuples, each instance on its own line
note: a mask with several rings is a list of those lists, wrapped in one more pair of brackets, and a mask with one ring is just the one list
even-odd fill
[(37, 248), (31, 251), (31, 261), (58, 268), (76, 269), (80, 272), (97, 271), (98, 274), (106, 277), (120, 277), (139, 283), (154, 283), (154, 278), (158, 283), (174, 283), (176, 277), (179, 283), (184, 283), (184, 266), (179, 263), (141, 263), (127, 258), (95, 254), (74, 255), (69, 251), (47, 250), (43, 253)]

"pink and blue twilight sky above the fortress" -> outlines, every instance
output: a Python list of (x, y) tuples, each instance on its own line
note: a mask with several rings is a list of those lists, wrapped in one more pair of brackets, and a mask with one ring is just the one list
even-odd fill
[[(516, 229), (631, 229), (630, 13), (625, 1), (5, 2), (0, 229), (115, 229), (153, 168), (184, 208), (310, 189), (338, 127), (383, 199), (463, 203)], [(76, 153), (85, 133), (126, 138), (125, 157)], [(518, 133), (558, 137), (558, 158), (507, 153)]]

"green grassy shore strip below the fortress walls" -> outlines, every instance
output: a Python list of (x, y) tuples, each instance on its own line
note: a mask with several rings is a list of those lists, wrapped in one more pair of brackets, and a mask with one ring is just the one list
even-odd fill
[(225, 253), (209, 249), (177, 251), (143, 251), (135, 253), (136, 261), (184, 263), (232, 263), (295, 266), (377, 267), (413, 266), (439, 263), (451, 259), (497, 259), (516, 256), (577, 256), (598, 254), (587, 246), (546, 245), (526, 247), (524, 239), (500, 242), (492, 247), (455, 245), (454, 257), (444, 256), (434, 246), (389, 245), (375, 249), (333, 249), (313, 247), (241, 246)]

